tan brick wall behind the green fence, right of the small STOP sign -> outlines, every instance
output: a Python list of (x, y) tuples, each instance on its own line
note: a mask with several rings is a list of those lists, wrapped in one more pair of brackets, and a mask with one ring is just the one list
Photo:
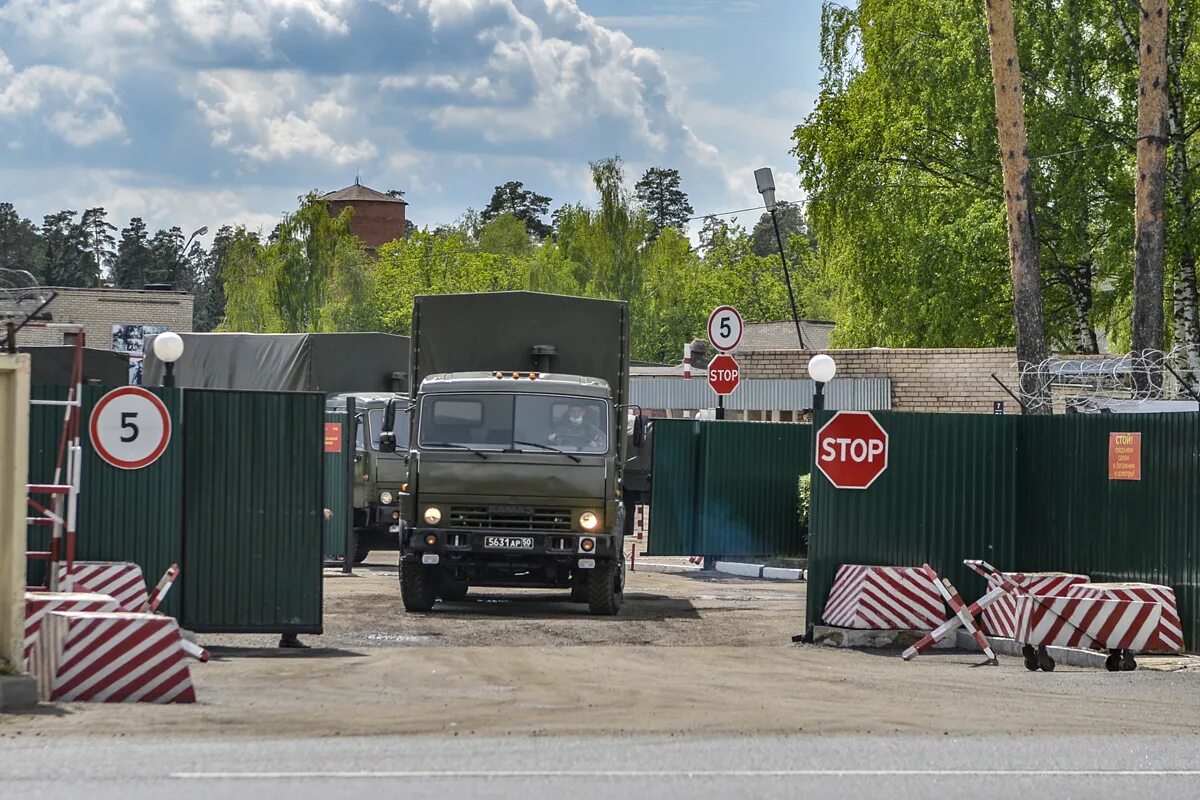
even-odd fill
[[(889, 378), (896, 411), (958, 411), (991, 414), (995, 401), (1004, 411), (1020, 411), (991, 373), (1016, 387), (1016, 351), (990, 349), (822, 350), (838, 363), (838, 378)], [(809, 359), (817, 350), (761, 350), (737, 354), (743, 378), (808, 378)], [(834, 379), (836, 380), (836, 378)]]

